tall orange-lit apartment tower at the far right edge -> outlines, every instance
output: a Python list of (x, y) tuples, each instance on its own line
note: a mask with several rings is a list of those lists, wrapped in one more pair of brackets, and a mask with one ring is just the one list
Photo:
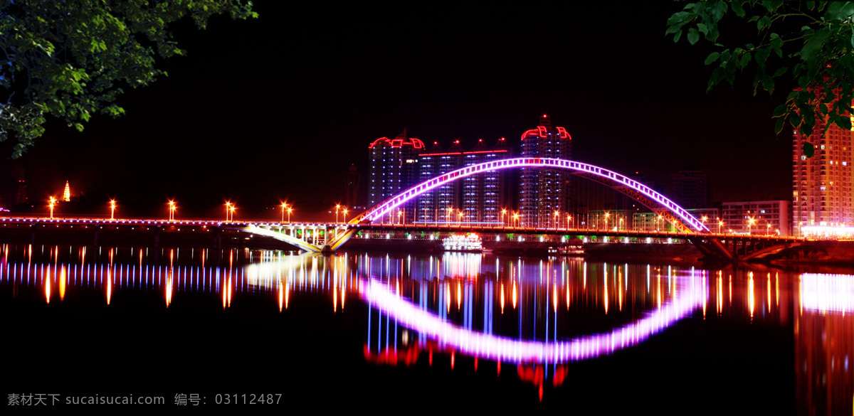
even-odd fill
[[(851, 227), (854, 131), (828, 125), (816, 113), (812, 135), (805, 137), (796, 130), (793, 136), (793, 234), (804, 235), (803, 227)], [(812, 157), (804, 153), (807, 142), (815, 149)]]

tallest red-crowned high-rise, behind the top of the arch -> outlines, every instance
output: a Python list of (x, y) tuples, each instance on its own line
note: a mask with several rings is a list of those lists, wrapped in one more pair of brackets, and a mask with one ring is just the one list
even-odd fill
[[(563, 127), (552, 127), (547, 114), (536, 129), (522, 135), (522, 157), (570, 159), (572, 138)], [(570, 198), (570, 173), (562, 170), (523, 168), (519, 176), (519, 223), (546, 228), (555, 211), (566, 211)]]

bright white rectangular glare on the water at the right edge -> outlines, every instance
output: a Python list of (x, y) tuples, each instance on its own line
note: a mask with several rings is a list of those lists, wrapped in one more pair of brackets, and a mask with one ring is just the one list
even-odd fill
[(801, 305), (821, 312), (854, 310), (854, 276), (851, 274), (801, 274)]

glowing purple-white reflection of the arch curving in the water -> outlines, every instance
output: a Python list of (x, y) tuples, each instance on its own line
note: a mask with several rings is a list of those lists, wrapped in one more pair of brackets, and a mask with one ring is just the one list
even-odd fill
[(587, 360), (639, 344), (702, 306), (708, 297), (703, 279), (692, 275), (680, 280), (682, 285), (676, 297), (652, 311), (646, 318), (608, 333), (559, 342), (499, 337), (455, 326), (427, 310), (418, 309), (418, 306), (395, 295), (377, 280), (363, 282), (360, 292), (366, 302), (381, 309), (401, 325), (435, 338), (439, 344), (447, 344), (466, 355), (512, 362), (565, 362)]

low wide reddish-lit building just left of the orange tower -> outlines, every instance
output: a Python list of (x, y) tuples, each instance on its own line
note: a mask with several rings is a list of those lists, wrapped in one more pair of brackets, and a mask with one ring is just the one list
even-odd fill
[(724, 202), (721, 211), (724, 233), (792, 235), (792, 203), (787, 200)]

